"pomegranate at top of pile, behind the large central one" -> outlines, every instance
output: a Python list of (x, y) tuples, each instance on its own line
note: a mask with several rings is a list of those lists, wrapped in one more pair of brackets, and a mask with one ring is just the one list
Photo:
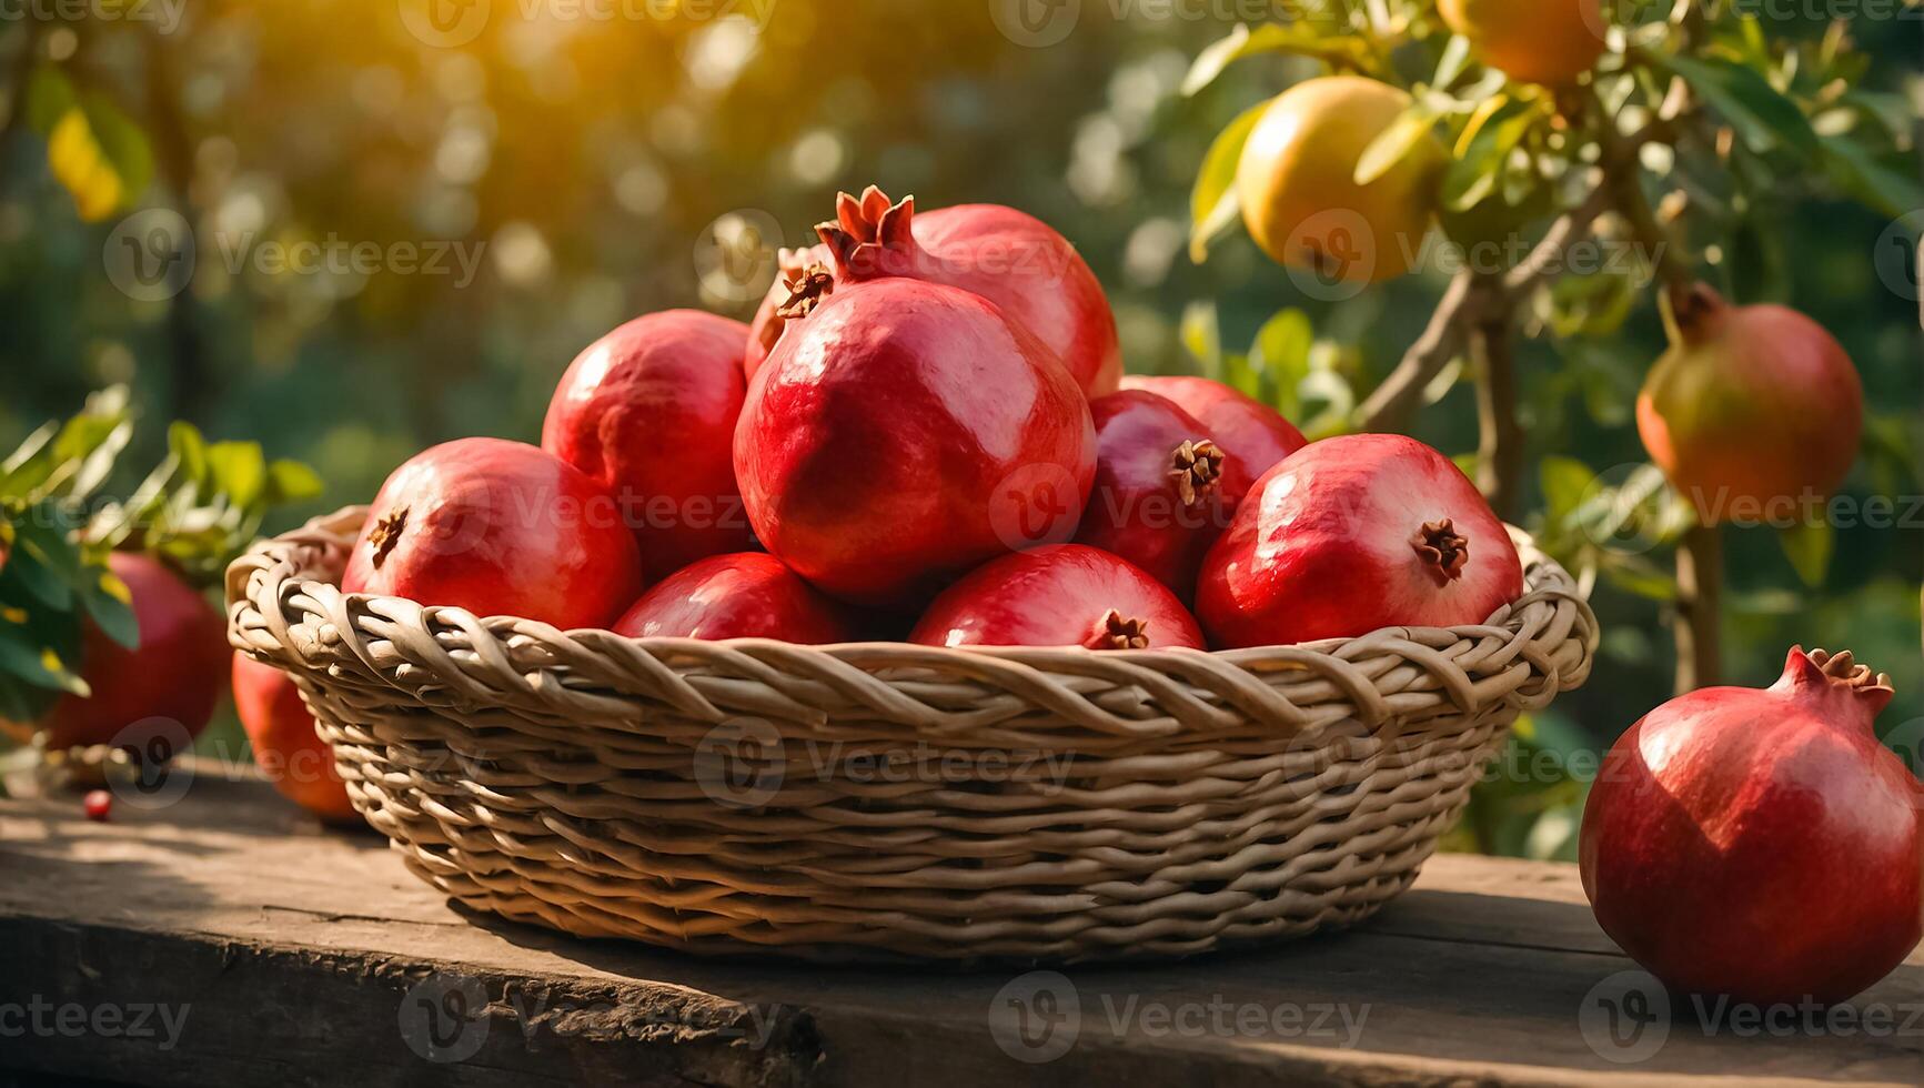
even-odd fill
[(918, 214), (914, 196), (895, 204), (873, 185), (860, 198), (843, 193), (835, 212), (837, 221), (816, 231), (839, 285), (906, 275), (981, 295), (1060, 358), (1083, 393), (1116, 391), (1116, 314), (1089, 264), (1049, 223), (1002, 204)]

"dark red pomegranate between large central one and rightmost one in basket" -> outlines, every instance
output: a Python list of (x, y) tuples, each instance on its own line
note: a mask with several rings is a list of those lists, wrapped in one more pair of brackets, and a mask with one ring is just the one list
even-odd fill
[(1195, 591), (1208, 545), (1229, 526), (1254, 476), (1189, 412), (1154, 393), (1124, 389), (1095, 414), (1095, 491), (1076, 543), (1118, 555), (1177, 597)]

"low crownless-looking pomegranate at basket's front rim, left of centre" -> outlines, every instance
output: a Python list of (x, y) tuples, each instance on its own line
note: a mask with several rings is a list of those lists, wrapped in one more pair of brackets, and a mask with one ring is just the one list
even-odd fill
[(648, 589), (614, 626), (618, 635), (670, 639), (856, 641), (848, 609), (764, 553), (712, 555)]

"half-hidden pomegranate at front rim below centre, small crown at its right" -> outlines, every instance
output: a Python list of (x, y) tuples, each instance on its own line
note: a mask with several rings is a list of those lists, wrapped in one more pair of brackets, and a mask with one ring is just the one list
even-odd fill
[(975, 570), (929, 605), (908, 641), (1204, 649), (1195, 616), (1166, 585), (1085, 545), (1004, 555)]

